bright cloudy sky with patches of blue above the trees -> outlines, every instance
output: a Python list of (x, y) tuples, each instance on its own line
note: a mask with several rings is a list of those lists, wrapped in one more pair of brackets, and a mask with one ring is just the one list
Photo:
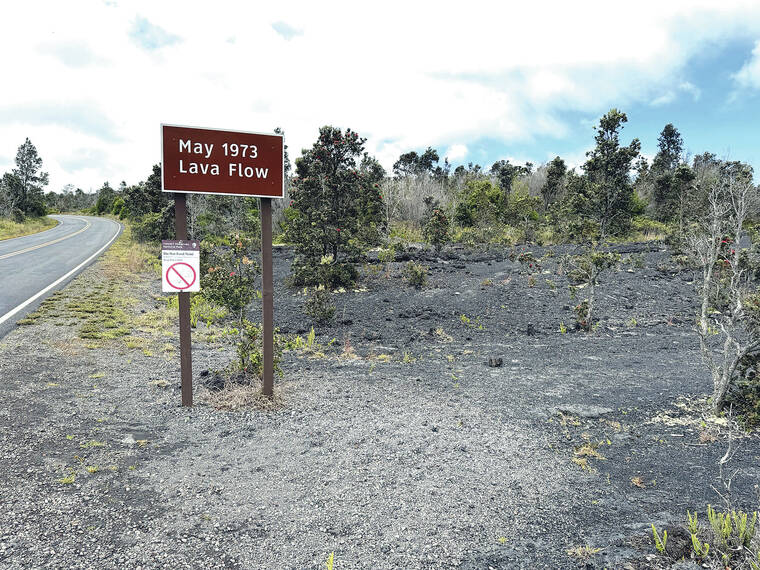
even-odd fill
[(0, 173), (28, 137), (48, 190), (135, 184), (160, 124), (285, 131), (291, 159), (350, 127), (390, 171), (431, 146), (453, 165), (573, 167), (610, 108), (651, 158), (667, 123), (691, 155), (760, 174), (760, 3), (3, 3)]

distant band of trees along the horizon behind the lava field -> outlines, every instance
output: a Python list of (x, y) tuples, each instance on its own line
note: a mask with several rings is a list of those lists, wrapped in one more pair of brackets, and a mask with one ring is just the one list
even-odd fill
[[(594, 149), (587, 153), (585, 163), (573, 170), (559, 156), (539, 165), (499, 160), (490, 168), (472, 163), (452, 168), (447, 158), (441, 161), (438, 151), (429, 147), (421, 153), (402, 154), (388, 173), (364, 151), (363, 139), (359, 139), (360, 154), (352, 164), (378, 189), (381, 212), (372, 214), (377, 232), (385, 238), (407, 240), (425, 238), (423, 230), (434, 212), (439, 238), (443, 235), (462, 242), (556, 243), (642, 233), (683, 234), (686, 226), (704, 213), (707, 189), (721, 171), (752, 179), (747, 164), (725, 161), (710, 152), (688, 156), (683, 138), (672, 124), (660, 132), (657, 154), (650, 164), (640, 154), (638, 139), (621, 142), (627, 120), (617, 109), (606, 113), (594, 127)], [(339, 129), (331, 132), (341, 133)], [(319, 139), (315, 148), (318, 143)], [(306, 168), (308, 154), (304, 150), (291, 174), (286, 151), (286, 198), (275, 201), (275, 231), (285, 239), (289, 221), (299, 219), (289, 194), (307, 180), (299, 177), (298, 168)], [(131, 220), (140, 239), (173, 235), (173, 201), (161, 192), (159, 166), (131, 186), (122, 182), (113, 188), (106, 182), (97, 193), (87, 194), (69, 185), (63, 192), (44, 194), (48, 177), (41, 172), (41, 165), (27, 139), (18, 149), (16, 168), (3, 175), (0, 215), (23, 218), (49, 211), (86, 210)], [(329, 168), (324, 162), (309, 163), (308, 169), (335, 186), (326, 188), (328, 193), (348, 191), (348, 187), (341, 188), (343, 178), (328, 173)], [(372, 207), (377, 209), (378, 204)], [(256, 233), (257, 201), (190, 195), (188, 229), (198, 239), (231, 231)]]

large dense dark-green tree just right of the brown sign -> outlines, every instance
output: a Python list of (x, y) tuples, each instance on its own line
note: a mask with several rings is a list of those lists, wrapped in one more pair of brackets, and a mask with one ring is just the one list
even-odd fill
[(287, 212), (287, 235), (297, 253), (296, 284), (340, 286), (356, 280), (350, 262), (368, 245), (362, 239), (366, 227), (382, 224), (378, 171), (368, 158), (365, 170), (358, 164), (365, 141), (351, 129), (325, 126), (296, 160)]

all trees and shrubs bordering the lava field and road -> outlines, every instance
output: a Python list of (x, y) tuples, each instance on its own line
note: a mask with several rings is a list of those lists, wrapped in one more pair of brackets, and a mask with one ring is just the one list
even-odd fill
[[(377, 252), (378, 272), (387, 275), (390, 262), (410, 247), (441, 255), (451, 245), (576, 244), (563, 265), (573, 282), (575, 330), (593, 333), (597, 290), (614, 279), (610, 270), (621, 262), (610, 246), (660, 240), (683, 269), (699, 275), (694, 330), (713, 378), (713, 413), (730, 405), (746, 425), (757, 423), (760, 250), (752, 168), (710, 152), (688, 157), (672, 124), (659, 134), (658, 152), (649, 163), (638, 139), (624, 140), (627, 121), (618, 109), (601, 117), (594, 127), (595, 146), (576, 169), (559, 156), (540, 165), (502, 159), (490, 167), (454, 168), (428, 147), (402, 154), (386, 172), (358, 133), (323, 127), (292, 173), (286, 150), (286, 197), (275, 201), (275, 242), (295, 249), (291, 282), (304, 292), (305, 316), (316, 324), (334, 318), (334, 292), (359, 287), (359, 268), (370, 250)], [(47, 212), (78, 209), (127, 222), (130, 231), (122, 239), (149, 248), (173, 237), (174, 205), (161, 192), (159, 166), (137, 184), (114, 188), (106, 182), (88, 195), (71, 187), (44, 194), (48, 177), (41, 165), (27, 139), (18, 149), (16, 168), (3, 175), (0, 219), (36, 227)], [(2, 223), (0, 228), (11, 227)], [(194, 296), (194, 320), (204, 318), (198, 313), (226, 319), (237, 339), (238, 373), (256, 376), (260, 331), (244, 309), (256, 295), (258, 202), (191, 194), (187, 225), (203, 246), (204, 289)], [(541, 266), (529, 256), (523, 252), (515, 260), (530, 288)], [(426, 286), (424, 264), (408, 263), (404, 275), (410, 286)], [(565, 323), (560, 328), (567, 331)]]

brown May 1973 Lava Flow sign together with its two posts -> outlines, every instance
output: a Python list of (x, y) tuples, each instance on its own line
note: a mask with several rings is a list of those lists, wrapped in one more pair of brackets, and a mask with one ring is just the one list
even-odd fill
[[(285, 194), (282, 135), (161, 125), (161, 184), (174, 192), (178, 240), (187, 239), (185, 194), (223, 194), (260, 198), (262, 392), (274, 389), (274, 286), (272, 276), (272, 198)], [(200, 277), (200, 276), (199, 276)], [(182, 405), (193, 405), (190, 294), (179, 295)]]

